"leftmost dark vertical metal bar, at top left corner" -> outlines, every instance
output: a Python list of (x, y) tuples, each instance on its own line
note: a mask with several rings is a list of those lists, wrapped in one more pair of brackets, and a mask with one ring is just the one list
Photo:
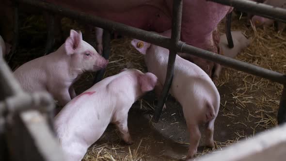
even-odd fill
[(16, 49), (19, 45), (19, 8), (18, 8), (18, 1), (15, 0), (15, 10), (14, 10), (14, 31), (13, 31), (13, 44), (12, 44), (12, 50), (10, 51), (8, 55), (7, 62), (8, 64), (11, 64), (11, 60), (16, 54)]

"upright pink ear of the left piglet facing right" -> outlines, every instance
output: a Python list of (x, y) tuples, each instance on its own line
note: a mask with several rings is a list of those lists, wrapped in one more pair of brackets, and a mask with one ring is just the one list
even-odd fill
[(73, 54), (79, 48), (80, 41), (82, 40), (81, 32), (70, 30), (69, 37), (65, 40), (65, 51), (67, 55)]

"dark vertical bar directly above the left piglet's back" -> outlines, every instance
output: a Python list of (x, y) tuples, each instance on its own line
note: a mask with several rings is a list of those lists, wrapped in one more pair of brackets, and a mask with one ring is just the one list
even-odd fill
[(54, 40), (55, 40), (55, 15), (53, 13), (44, 13), (47, 15), (47, 28), (48, 28), (48, 36), (47, 36), (47, 43), (46, 48), (44, 51), (44, 55), (47, 55), (51, 52), (53, 46), (54, 46)]

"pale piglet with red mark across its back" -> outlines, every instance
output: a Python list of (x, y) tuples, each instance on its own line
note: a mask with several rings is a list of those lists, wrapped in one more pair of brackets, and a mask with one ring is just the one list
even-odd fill
[(67, 103), (55, 117), (55, 129), (66, 161), (80, 161), (109, 123), (116, 125), (127, 144), (132, 144), (127, 128), (128, 111), (139, 97), (153, 90), (157, 82), (152, 73), (125, 69)]

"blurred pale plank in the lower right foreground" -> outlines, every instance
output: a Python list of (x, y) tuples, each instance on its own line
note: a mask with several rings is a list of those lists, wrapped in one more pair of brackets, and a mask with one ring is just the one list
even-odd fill
[(197, 161), (286, 161), (286, 124)]

